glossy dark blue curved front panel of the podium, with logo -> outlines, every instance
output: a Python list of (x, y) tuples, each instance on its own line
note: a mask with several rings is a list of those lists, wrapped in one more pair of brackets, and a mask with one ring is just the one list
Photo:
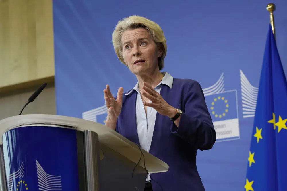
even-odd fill
[(40, 125), (5, 132), (2, 142), (8, 190), (79, 191), (78, 133), (82, 132)]

